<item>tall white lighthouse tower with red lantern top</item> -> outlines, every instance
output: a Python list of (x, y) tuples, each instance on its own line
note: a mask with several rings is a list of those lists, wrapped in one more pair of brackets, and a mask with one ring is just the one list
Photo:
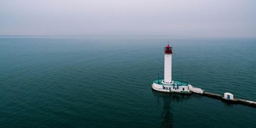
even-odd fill
[(164, 84), (173, 84), (172, 80), (172, 54), (173, 48), (167, 45), (164, 47)]

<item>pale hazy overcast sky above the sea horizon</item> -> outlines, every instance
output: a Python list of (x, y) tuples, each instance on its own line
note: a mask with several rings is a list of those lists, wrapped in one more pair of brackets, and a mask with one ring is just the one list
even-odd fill
[(1, 0), (0, 35), (256, 37), (256, 1)]

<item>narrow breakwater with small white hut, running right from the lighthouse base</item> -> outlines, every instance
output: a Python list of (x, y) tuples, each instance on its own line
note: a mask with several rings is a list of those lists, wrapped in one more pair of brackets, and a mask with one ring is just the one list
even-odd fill
[(240, 99), (240, 98), (233, 98), (233, 95), (231, 93), (224, 93), (224, 96), (222, 96), (220, 94), (206, 92), (200, 88), (195, 88), (193, 86), (190, 86), (189, 90), (193, 93), (201, 94), (210, 98), (220, 99), (224, 102), (230, 102), (234, 104), (239, 103), (239, 104), (248, 105), (248, 106), (252, 106), (253, 108), (256, 108), (255, 101)]

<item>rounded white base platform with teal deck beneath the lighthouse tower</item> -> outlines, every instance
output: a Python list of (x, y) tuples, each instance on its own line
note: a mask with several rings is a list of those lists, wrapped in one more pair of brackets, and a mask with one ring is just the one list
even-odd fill
[(164, 93), (182, 93), (182, 94), (191, 94), (189, 90), (190, 84), (186, 82), (180, 82), (174, 80), (173, 84), (164, 84), (163, 80), (154, 80), (152, 84), (152, 89), (164, 92)]

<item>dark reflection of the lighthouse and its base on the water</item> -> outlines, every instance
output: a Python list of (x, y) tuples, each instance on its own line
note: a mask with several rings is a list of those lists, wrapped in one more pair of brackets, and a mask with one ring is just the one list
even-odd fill
[(158, 102), (163, 98), (163, 110), (161, 113), (161, 127), (173, 127), (174, 118), (172, 114), (172, 102), (182, 102), (183, 100), (187, 100), (189, 95), (180, 95), (180, 94), (167, 94), (160, 93), (152, 90), (155, 97), (157, 97)]

